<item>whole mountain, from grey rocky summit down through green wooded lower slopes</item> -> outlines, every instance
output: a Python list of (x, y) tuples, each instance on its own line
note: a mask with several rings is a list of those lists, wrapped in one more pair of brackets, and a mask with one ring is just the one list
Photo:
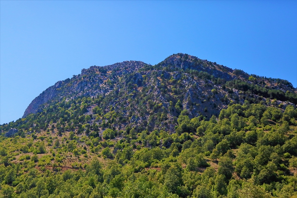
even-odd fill
[(0, 125), (0, 197), (297, 197), (297, 89), (188, 54), (92, 66)]

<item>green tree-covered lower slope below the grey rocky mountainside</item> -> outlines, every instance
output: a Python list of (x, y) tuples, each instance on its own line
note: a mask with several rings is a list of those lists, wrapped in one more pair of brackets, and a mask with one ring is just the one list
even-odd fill
[[(183, 110), (169, 133), (115, 130), (110, 124), (120, 114), (101, 109), (104, 100), (63, 100), (1, 125), (19, 129), (0, 138), (1, 196), (297, 196), (297, 110), (291, 105), (282, 110), (245, 101), (208, 121)], [(94, 104), (91, 116), (107, 122), (88, 123), (85, 112)]]

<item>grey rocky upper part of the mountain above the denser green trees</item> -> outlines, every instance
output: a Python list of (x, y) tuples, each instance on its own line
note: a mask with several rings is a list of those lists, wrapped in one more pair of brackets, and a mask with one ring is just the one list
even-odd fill
[[(286, 80), (248, 75), (191, 55), (174, 54), (155, 66), (124, 61), (83, 69), (80, 75), (58, 81), (42, 92), (23, 118), (62, 100), (91, 97), (100, 98), (100, 103), (88, 108), (90, 114), (96, 114), (92, 109), (99, 107), (103, 116), (112, 107), (117, 114), (112, 125), (118, 130), (129, 125), (173, 132), (182, 110), (190, 118), (201, 115), (209, 119), (230, 103), (266, 103), (266, 99), (277, 99), (275, 103), (284, 109), (292, 102), (297, 104), (296, 93)], [(102, 119), (96, 122), (102, 123)]]

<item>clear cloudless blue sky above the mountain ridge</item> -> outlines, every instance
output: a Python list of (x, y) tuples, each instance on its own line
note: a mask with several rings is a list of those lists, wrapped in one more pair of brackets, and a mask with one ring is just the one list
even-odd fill
[(82, 68), (179, 52), (297, 85), (297, 1), (0, 3), (0, 123)]

